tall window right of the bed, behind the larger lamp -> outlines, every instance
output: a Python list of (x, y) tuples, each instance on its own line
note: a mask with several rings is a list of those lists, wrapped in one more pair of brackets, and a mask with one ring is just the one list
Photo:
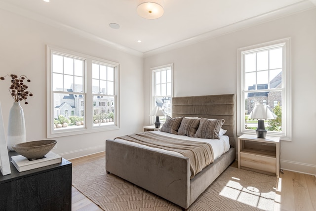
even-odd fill
[(255, 134), (247, 119), (257, 104), (270, 106), (277, 120), (266, 120), (268, 136), (291, 139), (290, 38), (240, 48), (237, 79), (237, 134)]

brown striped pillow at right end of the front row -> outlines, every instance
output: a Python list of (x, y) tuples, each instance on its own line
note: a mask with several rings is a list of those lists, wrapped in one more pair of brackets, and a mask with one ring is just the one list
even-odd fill
[(195, 137), (219, 139), (219, 131), (225, 120), (207, 120), (201, 118)]

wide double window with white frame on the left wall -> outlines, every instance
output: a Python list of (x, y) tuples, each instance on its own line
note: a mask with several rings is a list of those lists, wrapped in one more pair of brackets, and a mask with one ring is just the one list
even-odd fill
[(47, 82), (47, 137), (118, 128), (118, 63), (47, 46)]

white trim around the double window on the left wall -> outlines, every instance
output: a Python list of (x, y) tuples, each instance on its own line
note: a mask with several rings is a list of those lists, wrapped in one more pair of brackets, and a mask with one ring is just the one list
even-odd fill
[[(85, 73), (84, 73), (84, 90), (86, 94), (85, 99), (85, 105), (84, 105), (84, 122), (85, 127), (81, 128), (74, 128), (74, 129), (67, 129), (67, 130), (59, 130), (54, 131), (54, 125), (53, 123), (53, 110), (52, 110), (52, 101), (53, 101), (53, 95), (51, 91), (51, 84), (52, 84), (52, 71), (51, 71), (51, 61), (52, 61), (52, 53), (61, 53), (63, 55), (68, 55), (71, 57), (77, 57), (82, 60), (85, 60)], [(69, 50), (65, 50), (58, 47), (48, 46), (46, 45), (46, 70), (47, 70), (47, 138), (53, 138), (53, 137), (63, 137), (63, 136), (69, 136), (69, 135), (78, 135), (78, 134), (84, 134), (84, 133), (91, 133), (91, 132), (98, 132), (98, 131), (106, 131), (106, 130), (114, 130), (119, 129), (120, 124), (120, 111), (119, 111), (119, 64), (116, 62), (108, 61), (105, 59), (81, 54), (78, 52), (73, 52)], [(116, 104), (115, 111), (116, 115), (114, 116), (114, 125), (111, 126), (102, 126), (102, 127), (93, 127), (93, 121), (87, 122), (87, 118), (90, 118), (90, 120), (93, 119), (93, 95), (92, 93), (92, 63), (93, 62), (102, 62), (104, 64), (116, 67), (116, 74), (115, 74), (115, 100)], [(91, 103), (88, 103), (91, 102)]]

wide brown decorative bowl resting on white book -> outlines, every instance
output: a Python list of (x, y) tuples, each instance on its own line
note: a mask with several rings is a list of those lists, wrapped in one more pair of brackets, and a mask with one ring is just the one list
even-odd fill
[(12, 146), (12, 149), (28, 159), (42, 158), (57, 143), (56, 140), (29, 141)]

